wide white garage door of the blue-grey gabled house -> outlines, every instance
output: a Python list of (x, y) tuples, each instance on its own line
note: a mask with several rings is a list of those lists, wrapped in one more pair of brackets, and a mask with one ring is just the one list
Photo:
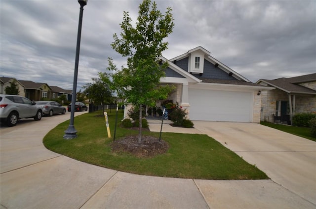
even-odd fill
[(252, 93), (189, 89), (190, 119), (252, 122)]

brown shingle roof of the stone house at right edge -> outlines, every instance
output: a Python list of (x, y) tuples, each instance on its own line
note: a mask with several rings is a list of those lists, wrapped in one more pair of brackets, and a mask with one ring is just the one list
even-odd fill
[(306, 83), (311, 81), (316, 81), (316, 73), (291, 78), (277, 78), (274, 80), (260, 79), (256, 83), (264, 82), (289, 94), (296, 93), (316, 95), (315, 90), (299, 85), (300, 83)]

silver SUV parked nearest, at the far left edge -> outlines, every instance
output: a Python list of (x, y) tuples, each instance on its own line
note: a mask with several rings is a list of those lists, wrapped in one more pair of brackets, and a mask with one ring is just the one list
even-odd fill
[(40, 120), (41, 116), (41, 108), (31, 100), (17, 95), (0, 94), (0, 121), (7, 126), (15, 126), (21, 118)]

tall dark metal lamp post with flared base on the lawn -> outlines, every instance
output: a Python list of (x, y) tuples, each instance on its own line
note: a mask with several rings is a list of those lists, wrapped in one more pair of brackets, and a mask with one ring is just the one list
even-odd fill
[(77, 78), (78, 78), (78, 65), (79, 65), (79, 51), (80, 51), (80, 39), (81, 39), (81, 26), (82, 26), (82, 15), (83, 15), (83, 6), (87, 4), (88, 0), (78, 0), (80, 4), (80, 13), (79, 13), (79, 25), (78, 25), (78, 35), (77, 35), (77, 48), (76, 48), (76, 61), (75, 61), (75, 72), (74, 72), (74, 83), (73, 83), (73, 94), (71, 98), (71, 113), (70, 113), (70, 124), (68, 129), (65, 131), (64, 139), (74, 139), (77, 136), (77, 130), (74, 126), (74, 117), (75, 117), (75, 107), (76, 107), (76, 94), (77, 94)]

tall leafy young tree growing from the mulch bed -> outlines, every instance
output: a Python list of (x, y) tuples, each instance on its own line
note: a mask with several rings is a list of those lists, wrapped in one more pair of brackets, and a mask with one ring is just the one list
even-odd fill
[[(128, 12), (123, 12), (120, 24), (120, 37), (113, 35), (112, 48), (127, 57), (127, 67), (113, 75), (118, 95), (141, 110), (143, 105), (154, 106), (158, 99), (166, 99), (171, 91), (169, 86), (159, 85), (165, 76), (167, 63), (162, 64), (158, 58), (167, 49), (168, 42), (163, 39), (172, 33), (174, 27), (172, 9), (168, 7), (163, 15), (157, 4), (143, 0), (139, 5), (136, 27)], [(116, 70), (109, 59), (109, 70)], [(141, 142), (142, 111), (139, 111), (139, 142)]]

